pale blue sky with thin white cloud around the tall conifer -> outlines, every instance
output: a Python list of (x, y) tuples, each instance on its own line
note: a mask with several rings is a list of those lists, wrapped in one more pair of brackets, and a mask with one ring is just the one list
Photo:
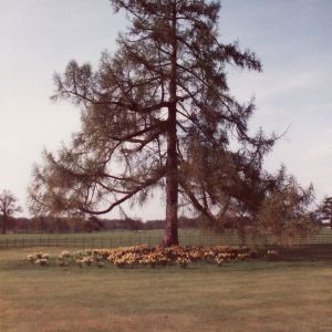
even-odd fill
[[(287, 165), (318, 198), (332, 195), (332, 1), (224, 0), (220, 39), (255, 51), (263, 73), (228, 70), (240, 101), (256, 97), (250, 128), (288, 132), (266, 167)], [(32, 165), (43, 147), (55, 151), (80, 127), (71, 105), (53, 104), (52, 75), (71, 59), (97, 64), (116, 48), (127, 24), (107, 0), (0, 0), (0, 190), (10, 189), (25, 208)], [(132, 212), (160, 218), (155, 199)]]

